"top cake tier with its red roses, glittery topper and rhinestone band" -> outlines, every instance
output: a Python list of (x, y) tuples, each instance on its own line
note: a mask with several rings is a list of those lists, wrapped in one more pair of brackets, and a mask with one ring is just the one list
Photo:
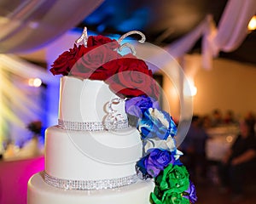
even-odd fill
[[(116, 41), (88, 37), (85, 29), (77, 40), (84, 44), (74, 44), (55, 60), (50, 71), (65, 76), (61, 78), (59, 125), (92, 131), (127, 127), (125, 99), (158, 98), (159, 88), (148, 65), (137, 59), (130, 43), (121, 45), (131, 34), (140, 35), (139, 42), (145, 41), (140, 31), (128, 32)], [(125, 47), (131, 54), (119, 54)]]

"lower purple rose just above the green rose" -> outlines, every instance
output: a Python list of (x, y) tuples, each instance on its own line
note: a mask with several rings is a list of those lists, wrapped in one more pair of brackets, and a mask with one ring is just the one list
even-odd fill
[(143, 174), (149, 174), (155, 178), (160, 171), (164, 170), (170, 163), (173, 164), (174, 161), (171, 151), (154, 149), (137, 162), (137, 167)]

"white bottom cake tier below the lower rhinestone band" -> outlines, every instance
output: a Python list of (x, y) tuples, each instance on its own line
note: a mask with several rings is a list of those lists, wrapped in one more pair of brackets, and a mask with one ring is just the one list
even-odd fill
[(37, 173), (28, 182), (27, 204), (149, 204), (153, 190), (153, 181), (142, 180), (116, 189), (62, 190), (46, 184)]

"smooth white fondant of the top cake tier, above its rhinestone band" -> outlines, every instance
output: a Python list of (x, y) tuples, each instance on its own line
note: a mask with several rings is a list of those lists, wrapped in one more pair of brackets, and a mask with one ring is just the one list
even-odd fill
[[(119, 99), (103, 81), (61, 77), (59, 119), (67, 122), (102, 122), (111, 99)], [(127, 119), (125, 102), (113, 109)]]

